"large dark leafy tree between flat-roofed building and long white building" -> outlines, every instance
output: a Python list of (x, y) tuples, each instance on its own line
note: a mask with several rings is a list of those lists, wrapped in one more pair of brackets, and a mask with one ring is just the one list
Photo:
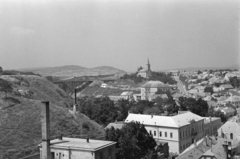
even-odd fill
[(126, 123), (121, 130), (106, 130), (106, 140), (115, 141), (117, 159), (140, 159), (154, 152), (156, 142), (144, 125), (138, 122)]

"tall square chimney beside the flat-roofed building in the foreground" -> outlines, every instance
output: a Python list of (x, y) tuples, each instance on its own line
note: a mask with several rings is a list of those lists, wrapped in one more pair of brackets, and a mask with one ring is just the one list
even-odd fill
[(49, 101), (42, 102), (45, 106), (41, 110), (42, 122), (42, 157), (51, 159), (50, 154), (50, 117), (49, 117)]

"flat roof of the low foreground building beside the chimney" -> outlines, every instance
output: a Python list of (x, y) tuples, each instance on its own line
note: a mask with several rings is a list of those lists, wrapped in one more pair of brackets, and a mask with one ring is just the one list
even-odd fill
[[(67, 137), (63, 137), (62, 140), (54, 139), (50, 141), (51, 148), (75, 149), (83, 151), (97, 151), (114, 144), (116, 144), (114, 141), (89, 139), (89, 142), (87, 142), (87, 139)], [(41, 144), (39, 146), (41, 147)]]

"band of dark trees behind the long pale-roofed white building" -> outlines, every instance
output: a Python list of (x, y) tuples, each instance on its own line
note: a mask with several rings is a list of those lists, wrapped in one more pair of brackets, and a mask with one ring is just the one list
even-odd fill
[(121, 99), (114, 103), (109, 97), (85, 97), (79, 99), (81, 113), (91, 120), (106, 126), (111, 122), (123, 121), (128, 113), (176, 115), (178, 111), (191, 111), (199, 116), (208, 116), (208, 104), (206, 101), (194, 98), (180, 97), (176, 102), (171, 96), (168, 99), (157, 97), (154, 101), (129, 101)]

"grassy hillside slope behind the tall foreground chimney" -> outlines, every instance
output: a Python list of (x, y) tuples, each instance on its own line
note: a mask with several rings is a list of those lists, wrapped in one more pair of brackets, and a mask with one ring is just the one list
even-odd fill
[[(5, 99), (0, 92), (0, 159), (19, 158), (35, 153), (41, 142), (40, 114), (43, 104), (50, 101), (51, 138), (58, 135), (68, 137), (100, 138), (103, 128), (84, 115), (69, 113), (71, 99), (46, 79), (38, 76), (0, 76), (13, 84), (13, 92)], [(23, 82), (25, 84), (23, 84)], [(32, 92), (32, 95), (20, 96), (17, 90)], [(86, 123), (90, 132), (82, 128)], [(85, 124), (85, 125), (86, 125)]]

